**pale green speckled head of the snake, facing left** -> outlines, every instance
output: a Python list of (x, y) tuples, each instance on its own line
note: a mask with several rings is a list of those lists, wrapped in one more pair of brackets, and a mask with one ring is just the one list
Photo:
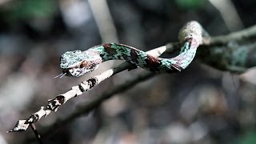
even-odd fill
[(79, 77), (93, 71), (101, 62), (102, 58), (92, 50), (67, 51), (60, 58), (62, 73), (71, 77)]

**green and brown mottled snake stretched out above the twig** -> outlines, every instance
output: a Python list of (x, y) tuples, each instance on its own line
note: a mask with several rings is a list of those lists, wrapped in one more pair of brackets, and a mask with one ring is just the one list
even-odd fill
[(104, 43), (88, 50), (66, 51), (60, 58), (62, 76), (79, 77), (96, 70), (108, 60), (126, 60), (133, 66), (154, 73), (174, 73), (186, 69), (194, 59), (202, 43), (202, 27), (196, 22), (187, 22), (179, 31), (180, 53), (174, 58), (158, 58), (132, 46), (119, 43)]

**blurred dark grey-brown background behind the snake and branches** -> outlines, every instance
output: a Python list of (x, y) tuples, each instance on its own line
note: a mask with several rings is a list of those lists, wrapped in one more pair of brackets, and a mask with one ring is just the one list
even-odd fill
[[(0, 0), (0, 143), (38, 143), (29, 129), (8, 133), (30, 114), (117, 62), (81, 78), (61, 79), (59, 57), (120, 42), (150, 50), (177, 42), (197, 20), (210, 35), (256, 23), (255, 0)], [(167, 55), (168, 56), (168, 55)], [(38, 132), (78, 106), (145, 70), (123, 71), (36, 123)], [(256, 72), (231, 74), (194, 61), (116, 94), (43, 137), (47, 144), (256, 143)], [(31, 139), (32, 138), (32, 139)]]

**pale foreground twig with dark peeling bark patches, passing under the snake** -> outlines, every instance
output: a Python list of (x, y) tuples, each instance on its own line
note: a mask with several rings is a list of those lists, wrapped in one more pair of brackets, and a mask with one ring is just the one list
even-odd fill
[[(150, 50), (148, 53), (152, 54), (155, 57), (158, 57), (165, 51), (174, 51), (179, 49), (179, 43), (174, 42), (173, 44), (169, 43), (166, 46), (158, 47), (154, 50)], [(30, 118), (26, 120), (19, 120), (14, 127), (13, 131), (22, 131), (26, 130), (31, 123), (38, 122), (42, 117), (46, 117), (52, 111), (57, 111), (59, 106), (62, 106), (65, 102), (67, 102), (70, 98), (74, 98), (78, 95), (81, 95), (84, 91), (90, 90), (92, 87), (97, 86), (100, 82), (105, 80), (106, 78), (110, 78), (110, 76), (117, 74), (123, 70), (127, 70), (130, 68), (130, 64), (128, 62), (124, 62), (119, 66), (114, 67), (113, 69), (106, 70), (102, 74), (98, 74), (86, 81), (81, 82), (78, 86), (73, 86), (71, 90), (67, 91), (65, 94), (59, 94), (54, 99), (48, 100), (47, 106), (42, 106), (38, 112), (31, 114)]]

